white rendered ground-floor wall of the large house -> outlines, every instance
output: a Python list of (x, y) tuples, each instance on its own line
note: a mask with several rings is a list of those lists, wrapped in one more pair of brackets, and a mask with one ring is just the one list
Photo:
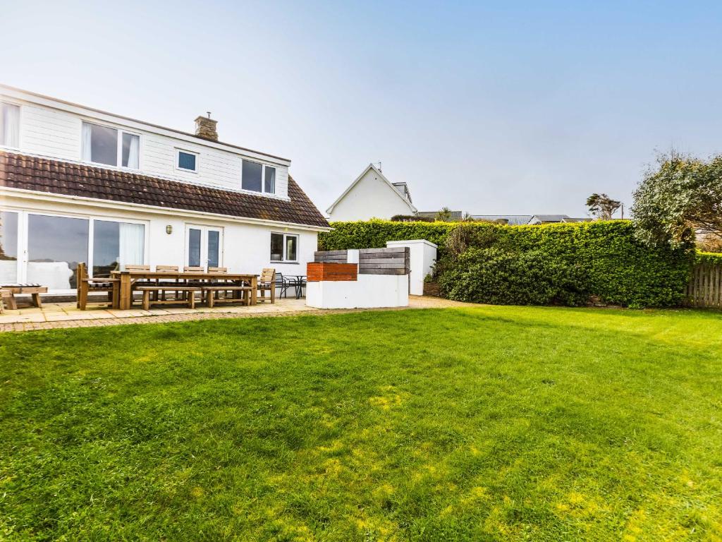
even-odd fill
[[(27, 214), (60, 215), (74, 218), (129, 220), (145, 225), (144, 263), (156, 265), (187, 265), (186, 225), (207, 225), (222, 228), (222, 255), (220, 265), (230, 272), (259, 274), (264, 267), (274, 267), (284, 275), (305, 275), (306, 263), (313, 262), (318, 233), (303, 228), (279, 225), (255, 225), (222, 217), (199, 216), (185, 211), (153, 212), (146, 209), (103, 207), (102, 202), (71, 202), (66, 198), (43, 194), (45, 200), (23, 197), (22, 194), (3, 194), (2, 210)], [(166, 233), (170, 225), (173, 233)], [(20, 250), (27, 239), (19, 228)], [(291, 233), (298, 236), (298, 263), (271, 262), (271, 233)], [(22, 269), (18, 282), (25, 281)], [(51, 291), (50, 293), (68, 293)]]

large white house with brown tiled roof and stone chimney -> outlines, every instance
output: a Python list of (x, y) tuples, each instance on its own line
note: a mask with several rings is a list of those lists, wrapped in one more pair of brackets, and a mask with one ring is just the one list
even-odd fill
[(0, 283), (76, 288), (126, 264), (305, 275), (329, 224), (291, 162), (0, 85)]

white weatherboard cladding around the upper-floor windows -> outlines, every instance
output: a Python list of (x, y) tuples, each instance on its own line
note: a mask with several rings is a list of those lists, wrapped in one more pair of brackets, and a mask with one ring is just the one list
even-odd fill
[[(242, 191), (241, 163), (243, 158), (246, 158), (276, 168), (276, 193), (269, 194), (268, 197), (288, 197), (288, 165), (290, 162), (287, 160), (264, 158), (263, 155), (230, 150), (229, 147), (217, 148), (214, 145), (205, 145), (202, 139), (194, 137), (170, 137), (168, 134), (161, 133), (161, 130), (154, 131), (147, 125), (125, 121), (118, 117), (94, 115), (90, 112), (83, 114), (64, 111), (12, 96), (3, 98), (2, 88), (0, 88), (0, 98), (20, 106), (20, 152), (79, 162), (82, 158), (81, 126), (82, 121), (86, 120), (139, 134), (140, 170), (117, 169), (191, 184), (204, 184)], [(25, 96), (25, 98), (30, 99), (31, 97)], [(188, 124), (191, 122), (189, 121)], [(180, 171), (175, 168), (176, 149), (199, 153), (197, 173)], [(103, 164), (95, 165), (101, 168), (111, 168)], [(248, 193), (258, 195), (258, 192)]]

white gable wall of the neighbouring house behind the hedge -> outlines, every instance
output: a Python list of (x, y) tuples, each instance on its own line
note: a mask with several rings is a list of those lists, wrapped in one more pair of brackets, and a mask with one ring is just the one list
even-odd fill
[(334, 206), (329, 220), (368, 220), (412, 215), (414, 211), (383, 178), (369, 169), (355, 186)]

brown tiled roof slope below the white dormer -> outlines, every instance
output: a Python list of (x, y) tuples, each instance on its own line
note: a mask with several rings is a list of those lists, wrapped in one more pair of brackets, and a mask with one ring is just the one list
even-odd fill
[(329, 227), (321, 212), (291, 177), (288, 178), (290, 201), (287, 201), (128, 171), (0, 152), (0, 186), (163, 209)]

